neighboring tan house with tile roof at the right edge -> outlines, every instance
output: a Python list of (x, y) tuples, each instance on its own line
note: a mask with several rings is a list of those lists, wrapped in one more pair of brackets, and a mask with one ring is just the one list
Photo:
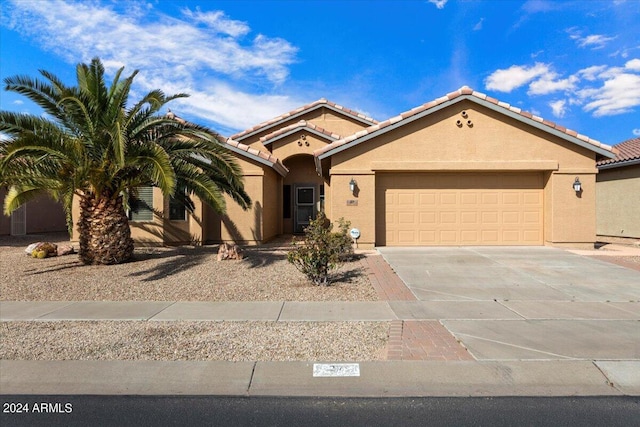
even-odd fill
[(640, 238), (640, 138), (613, 147), (614, 159), (598, 162), (596, 232)]

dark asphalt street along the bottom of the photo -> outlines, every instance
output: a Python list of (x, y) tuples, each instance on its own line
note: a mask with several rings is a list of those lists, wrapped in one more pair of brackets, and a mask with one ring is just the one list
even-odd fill
[[(638, 426), (638, 397), (0, 397), (9, 426)], [(19, 404), (28, 412), (15, 413)], [(37, 408), (37, 409), (36, 409)], [(9, 413), (13, 411), (14, 413)], [(54, 411), (54, 412), (52, 412)]]

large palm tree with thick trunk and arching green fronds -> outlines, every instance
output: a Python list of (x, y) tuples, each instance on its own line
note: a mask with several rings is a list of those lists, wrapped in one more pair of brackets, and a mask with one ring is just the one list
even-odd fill
[(5, 90), (39, 105), (45, 116), (0, 111), (0, 186), (9, 187), (9, 215), (41, 193), (62, 202), (69, 231), (71, 209), (79, 198), (77, 225), (80, 259), (85, 264), (115, 264), (133, 254), (126, 208), (137, 188), (154, 186), (193, 211), (195, 195), (219, 213), (224, 194), (243, 209), (251, 200), (241, 169), (215, 132), (160, 115), (165, 104), (187, 95), (160, 90), (129, 103), (134, 71), (110, 86), (102, 62), (76, 67), (77, 85), (40, 71), (44, 80), (6, 78)]

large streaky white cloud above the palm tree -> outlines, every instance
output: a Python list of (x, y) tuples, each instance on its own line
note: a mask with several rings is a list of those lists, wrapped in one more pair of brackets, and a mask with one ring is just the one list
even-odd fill
[[(5, 25), (67, 62), (99, 56), (110, 72), (123, 65), (125, 75), (140, 69), (136, 93), (156, 88), (190, 93), (175, 104), (222, 127), (244, 129), (302, 103), (264, 95), (286, 81), (297, 48), (281, 38), (252, 36), (246, 22), (222, 11), (185, 9), (173, 17), (149, 3), (127, 2), (125, 7), (74, 0), (11, 0), (3, 9)], [(234, 81), (244, 87), (234, 87)], [(210, 92), (225, 84), (226, 90)], [(247, 87), (261, 94), (252, 95)], [(242, 108), (234, 109), (239, 100)]]

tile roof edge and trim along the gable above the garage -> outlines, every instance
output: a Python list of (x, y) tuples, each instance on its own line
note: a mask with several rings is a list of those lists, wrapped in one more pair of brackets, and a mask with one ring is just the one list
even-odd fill
[[(321, 156), (322, 158), (329, 156), (330, 152), (338, 149), (341, 146), (353, 143), (351, 145), (357, 144), (357, 140), (362, 139), (367, 135), (372, 135), (377, 132), (386, 132), (387, 130), (391, 130), (394, 127), (393, 125), (400, 123), (399, 126), (402, 125), (401, 122), (408, 123), (412, 121), (412, 119), (416, 119), (427, 114), (430, 114), (433, 111), (437, 111), (445, 106), (451, 105), (463, 99), (470, 99), (477, 103), (483, 104), (489, 108), (492, 108), (496, 111), (501, 111), (508, 115), (513, 116), (516, 119), (522, 120), (529, 124), (537, 125), (538, 128), (554, 131), (555, 133), (559, 133), (560, 136), (564, 136), (566, 139), (573, 140), (574, 142), (579, 142), (580, 145), (586, 146), (587, 148), (591, 148), (592, 150), (599, 152), (600, 154), (606, 156), (613, 156), (611, 153), (611, 146), (602, 144), (595, 139), (591, 139), (585, 135), (581, 135), (576, 131), (567, 129), (563, 126), (560, 126), (554, 122), (543, 119), (542, 117), (535, 116), (529, 112), (526, 112), (518, 107), (514, 107), (506, 102), (499, 101), (495, 98), (487, 96), (484, 93), (475, 91), (468, 86), (463, 86), (460, 89), (450, 92), (445, 96), (434, 99), (433, 101), (427, 102), (426, 104), (419, 105), (415, 108), (412, 108), (409, 111), (405, 111), (398, 116), (392, 117), (385, 121), (379, 122), (373, 126), (369, 126), (366, 129), (363, 129), (359, 132), (354, 133), (353, 135), (347, 136), (346, 138), (342, 138), (338, 141), (332, 142), (331, 144), (326, 145), (316, 151), (314, 151), (315, 156)], [(389, 129), (386, 129), (389, 128)], [(368, 138), (367, 138), (368, 139)], [(576, 141), (577, 140), (577, 141)], [(347, 148), (347, 147), (344, 147)]]

